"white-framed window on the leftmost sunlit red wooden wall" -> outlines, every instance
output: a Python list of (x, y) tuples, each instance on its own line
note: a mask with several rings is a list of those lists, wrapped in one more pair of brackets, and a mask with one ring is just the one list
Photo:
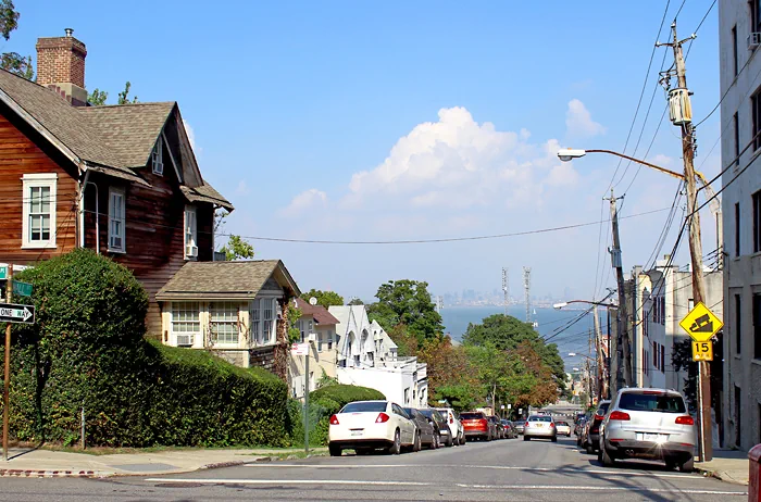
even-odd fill
[(22, 248), (55, 247), (55, 173), (25, 174)]

